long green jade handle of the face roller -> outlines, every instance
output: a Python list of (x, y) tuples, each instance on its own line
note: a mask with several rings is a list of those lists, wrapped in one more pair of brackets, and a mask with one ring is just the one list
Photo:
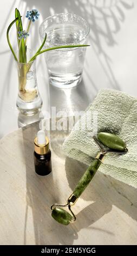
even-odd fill
[(75, 194), (77, 198), (80, 197), (85, 188), (88, 186), (89, 182), (93, 179), (97, 169), (100, 167), (100, 164), (101, 161), (99, 159), (95, 159), (83, 174), (79, 183), (75, 187), (75, 190), (73, 191), (73, 194)]

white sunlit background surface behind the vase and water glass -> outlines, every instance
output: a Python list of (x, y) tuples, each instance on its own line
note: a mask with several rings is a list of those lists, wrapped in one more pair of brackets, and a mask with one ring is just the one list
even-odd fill
[[(56, 89), (48, 84), (44, 56), (37, 58), (37, 82), (43, 99), (43, 111), (50, 106), (58, 110), (83, 110), (94, 99), (101, 88), (122, 90), (137, 96), (137, 1), (135, 0), (4, 0), (1, 1), (0, 38), (0, 137), (15, 130), (23, 123), (16, 109), (17, 73), (14, 58), (6, 41), (6, 29), (14, 20), (17, 7), (23, 16), (24, 29), (28, 20), (27, 10), (38, 9), (40, 19), (32, 24), (28, 44), (37, 50), (40, 46), (38, 28), (51, 14), (75, 13), (90, 23), (90, 47), (84, 63), (83, 80), (71, 90)], [(10, 32), (14, 49), (15, 27)], [(35, 117), (24, 120), (24, 124)]]

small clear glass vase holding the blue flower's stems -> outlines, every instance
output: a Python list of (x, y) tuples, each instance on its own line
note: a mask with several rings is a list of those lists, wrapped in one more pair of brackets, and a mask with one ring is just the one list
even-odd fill
[[(27, 50), (28, 60), (31, 50)], [(18, 74), (18, 96), (16, 105), (18, 110), (27, 115), (32, 115), (41, 110), (42, 99), (37, 87), (36, 59), (28, 63), (16, 62)]]

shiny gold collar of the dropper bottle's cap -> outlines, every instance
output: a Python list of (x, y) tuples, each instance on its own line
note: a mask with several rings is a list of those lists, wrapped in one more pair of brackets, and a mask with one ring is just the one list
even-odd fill
[(49, 139), (47, 136), (45, 136), (45, 141), (46, 143), (43, 144), (43, 145), (38, 145), (37, 143), (37, 137), (34, 139), (34, 145), (35, 145), (35, 152), (38, 154), (38, 155), (45, 155), (48, 153), (49, 151)]

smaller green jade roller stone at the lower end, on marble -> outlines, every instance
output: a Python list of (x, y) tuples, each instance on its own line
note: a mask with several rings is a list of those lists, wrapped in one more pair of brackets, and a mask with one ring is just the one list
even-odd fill
[(55, 221), (63, 224), (68, 225), (71, 221), (72, 216), (66, 210), (62, 208), (54, 208), (52, 210), (51, 216), (54, 218)]

